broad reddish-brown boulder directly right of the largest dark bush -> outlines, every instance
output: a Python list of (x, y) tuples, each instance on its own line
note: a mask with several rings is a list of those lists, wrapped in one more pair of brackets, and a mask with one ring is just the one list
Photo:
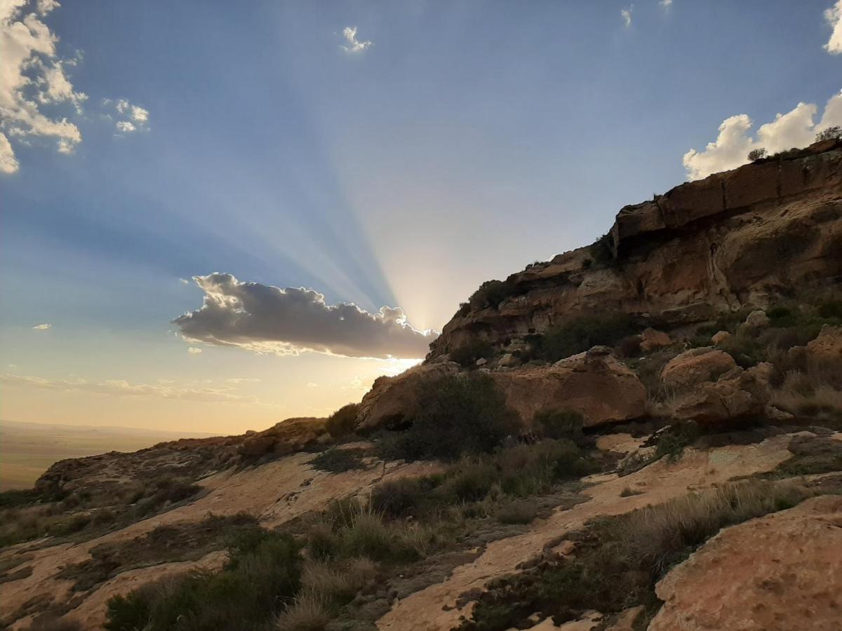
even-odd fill
[(585, 427), (646, 413), (646, 388), (608, 347), (594, 347), (549, 367), (507, 370), (492, 377), (525, 428), (531, 428), (532, 417), (544, 410), (578, 411)]

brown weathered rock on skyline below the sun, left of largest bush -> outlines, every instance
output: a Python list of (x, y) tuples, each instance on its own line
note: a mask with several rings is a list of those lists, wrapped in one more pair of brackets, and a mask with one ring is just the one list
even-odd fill
[(459, 364), (438, 362), (414, 366), (394, 377), (378, 377), (371, 385), (371, 390), (365, 393), (360, 401), (357, 426), (371, 428), (401, 422), (407, 412), (418, 403), (421, 384), (425, 379), (435, 379), (458, 372)]

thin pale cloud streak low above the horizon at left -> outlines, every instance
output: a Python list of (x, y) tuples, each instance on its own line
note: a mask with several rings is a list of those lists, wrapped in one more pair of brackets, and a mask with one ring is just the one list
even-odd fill
[(152, 396), (161, 399), (204, 401), (206, 403), (258, 402), (253, 396), (237, 395), (229, 388), (185, 388), (164, 383), (130, 384), (125, 379), (93, 382), (85, 379), (44, 379), (43, 377), (4, 373), (0, 374), (0, 383), (40, 390), (82, 391), (114, 396)]

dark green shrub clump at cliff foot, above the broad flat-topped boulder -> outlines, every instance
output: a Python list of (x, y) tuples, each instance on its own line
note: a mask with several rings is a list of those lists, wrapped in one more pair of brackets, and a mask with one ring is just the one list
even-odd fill
[(623, 337), (637, 333), (639, 328), (631, 315), (623, 313), (580, 316), (536, 337), (535, 354), (537, 358), (557, 362), (590, 347), (614, 347)]

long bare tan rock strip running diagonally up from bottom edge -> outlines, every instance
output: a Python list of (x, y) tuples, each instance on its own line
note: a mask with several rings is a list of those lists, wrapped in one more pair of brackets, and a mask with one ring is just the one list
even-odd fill
[[(581, 528), (599, 515), (617, 515), (647, 504), (659, 504), (685, 495), (688, 490), (725, 482), (734, 476), (775, 469), (790, 458), (791, 435), (766, 439), (756, 445), (730, 445), (706, 451), (686, 450), (676, 463), (659, 460), (632, 475), (594, 476), (595, 485), (584, 491), (589, 501), (559, 511), (539, 522), (529, 533), (495, 541), (470, 565), (461, 565), (446, 581), (429, 586), (397, 602), (377, 621), (389, 631), (438, 631), (459, 624), (470, 616), (473, 603), (456, 607), (461, 594), (480, 588), (489, 580), (513, 572), (521, 562), (541, 554), (547, 544), (564, 533)], [(626, 487), (642, 495), (621, 497)], [(447, 607), (447, 610), (445, 610)]]

